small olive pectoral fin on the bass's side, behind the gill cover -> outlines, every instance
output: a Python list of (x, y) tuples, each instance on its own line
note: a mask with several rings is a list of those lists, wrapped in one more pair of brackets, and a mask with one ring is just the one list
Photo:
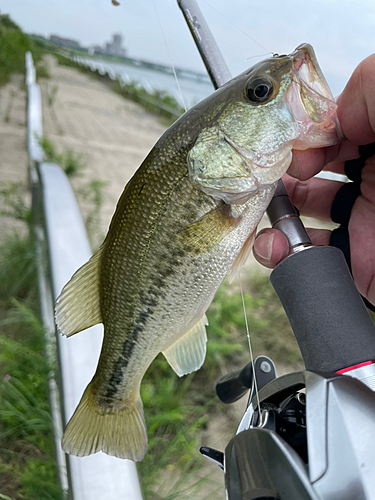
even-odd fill
[(178, 239), (192, 252), (204, 253), (215, 248), (241, 222), (230, 215), (230, 206), (219, 203), (204, 217), (182, 230)]

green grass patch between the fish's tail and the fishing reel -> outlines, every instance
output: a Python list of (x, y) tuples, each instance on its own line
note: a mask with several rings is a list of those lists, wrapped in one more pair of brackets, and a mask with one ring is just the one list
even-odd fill
[[(254, 355), (266, 354), (284, 365), (300, 363), (297, 343), (268, 276), (243, 276), (242, 282)], [(168, 476), (170, 471), (173, 471), (173, 480), (170, 479), (171, 497), (167, 498), (194, 498), (183, 492), (187, 483), (191, 487), (194, 478), (197, 488), (205, 482), (195, 474), (203, 463), (198, 453), (202, 430), (215, 415), (230, 412), (230, 408), (216, 398), (215, 382), (223, 374), (249, 362), (238, 285), (223, 283), (207, 317), (207, 356), (203, 367), (180, 379), (159, 355), (141, 385), (149, 452), (139, 464), (139, 471), (147, 500), (165, 498), (159, 495), (160, 477)], [(228, 429), (234, 434), (239, 422), (229, 420)]]

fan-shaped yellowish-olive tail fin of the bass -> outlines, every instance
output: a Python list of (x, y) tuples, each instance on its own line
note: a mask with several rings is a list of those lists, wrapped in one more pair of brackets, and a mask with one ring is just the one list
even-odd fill
[(98, 451), (134, 462), (147, 451), (147, 432), (140, 396), (128, 405), (108, 409), (100, 406), (90, 383), (70, 419), (62, 438), (66, 453), (85, 457)]

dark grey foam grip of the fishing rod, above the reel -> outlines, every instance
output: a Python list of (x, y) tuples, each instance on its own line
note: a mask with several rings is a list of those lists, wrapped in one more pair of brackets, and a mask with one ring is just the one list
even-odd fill
[(375, 325), (345, 258), (334, 247), (311, 247), (271, 274), (308, 370), (335, 372), (375, 359)]

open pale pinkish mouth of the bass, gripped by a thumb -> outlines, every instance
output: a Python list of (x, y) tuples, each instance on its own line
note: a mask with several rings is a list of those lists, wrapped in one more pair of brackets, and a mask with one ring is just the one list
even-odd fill
[(324, 147), (344, 139), (329, 85), (318, 64), (314, 49), (305, 43), (290, 54), (293, 82), (286, 95), (289, 111), (300, 126), (293, 149)]

